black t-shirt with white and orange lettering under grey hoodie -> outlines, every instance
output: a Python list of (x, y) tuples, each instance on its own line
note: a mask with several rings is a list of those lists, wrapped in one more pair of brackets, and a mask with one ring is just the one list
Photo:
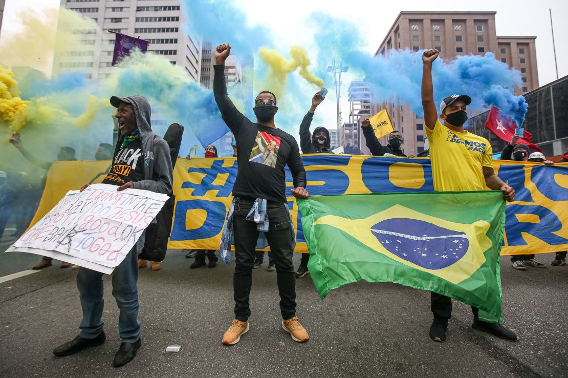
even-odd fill
[(123, 185), (126, 182), (144, 180), (143, 155), (140, 138), (120, 148), (112, 159), (112, 167), (102, 183)]

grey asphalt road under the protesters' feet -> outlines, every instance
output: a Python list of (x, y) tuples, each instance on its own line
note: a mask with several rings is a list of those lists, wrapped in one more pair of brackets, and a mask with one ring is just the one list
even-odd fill
[[(2, 240), (4, 251), (10, 238)], [(142, 347), (122, 368), (118, 308), (105, 278), (107, 341), (56, 358), (52, 349), (77, 334), (77, 271), (59, 263), (0, 284), (0, 377), (561, 377), (568, 376), (568, 265), (515, 271), (502, 260), (507, 342), (471, 329), (468, 306), (454, 301), (445, 343), (428, 337), (429, 293), (397, 284), (357, 283), (321, 301), (309, 276), (297, 281), (298, 316), (310, 333), (294, 342), (281, 329), (275, 272), (254, 270), (250, 331), (221, 343), (233, 318), (233, 265), (189, 269), (172, 250), (161, 271), (139, 276)], [(295, 256), (296, 266), (299, 255)], [(40, 257), (0, 254), (0, 277), (30, 269)], [(178, 354), (165, 354), (182, 344)]]

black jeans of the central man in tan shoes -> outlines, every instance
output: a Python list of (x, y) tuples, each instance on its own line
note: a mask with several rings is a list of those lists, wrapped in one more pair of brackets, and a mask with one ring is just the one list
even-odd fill
[[(240, 200), (240, 202), (239, 202)], [(233, 213), (235, 232), (235, 275), (233, 275), (233, 297), (235, 318), (241, 322), (250, 316), (249, 296), (252, 286), (252, 267), (258, 239), (257, 224), (247, 221), (247, 214), (254, 203), (253, 198), (237, 198)], [(292, 263), (293, 238), (290, 234), (290, 214), (283, 203), (266, 205), (269, 227), (265, 232), (272, 259), (276, 267), (276, 282), (280, 294), (280, 311), (283, 319), (293, 318), (296, 313), (296, 277)]]

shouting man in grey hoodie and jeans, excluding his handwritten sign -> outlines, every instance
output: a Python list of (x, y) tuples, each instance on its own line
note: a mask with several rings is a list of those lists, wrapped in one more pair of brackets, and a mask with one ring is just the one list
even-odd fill
[[(140, 95), (110, 98), (116, 107), (119, 136), (112, 168), (103, 184), (116, 185), (116, 190), (128, 188), (169, 194), (172, 192), (172, 158), (168, 143), (152, 132), (150, 104)], [(87, 185), (81, 188), (85, 190)], [(153, 221), (155, 222), (155, 220)], [(114, 357), (114, 367), (126, 365), (140, 348), (140, 321), (138, 320), (138, 265), (137, 257), (144, 246), (144, 233), (122, 263), (112, 272), (112, 296), (120, 309), (118, 330), (120, 348)], [(73, 340), (53, 350), (56, 356), (77, 353), (105, 342), (103, 331), (103, 273), (80, 268), (77, 289), (83, 310), (80, 332)]]

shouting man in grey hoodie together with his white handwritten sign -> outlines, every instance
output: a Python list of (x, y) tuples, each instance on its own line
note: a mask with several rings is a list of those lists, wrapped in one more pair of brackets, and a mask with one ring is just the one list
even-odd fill
[[(105, 342), (103, 273), (112, 273), (112, 295), (120, 309), (122, 343), (114, 367), (127, 364), (140, 348), (137, 256), (144, 230), (172, 192), (168, 144), (152, 132), (145, 97), (110, 99), (120, 135), (112, 168), (103, 184), (69, 192), (40, 222), (14, 244), (14, 250), (53, 254), (80, 265), (77, 273), (83, 319), (80, 333), (53, 350), (66, 356)], [(118, 188), (116, 186), (118, 185)], [(38, 245), (39, 244), (39, 245)], [(19, 248), (22, 249), (19, 249)], [(114, 271), (113, 271), (114, 269)]]

